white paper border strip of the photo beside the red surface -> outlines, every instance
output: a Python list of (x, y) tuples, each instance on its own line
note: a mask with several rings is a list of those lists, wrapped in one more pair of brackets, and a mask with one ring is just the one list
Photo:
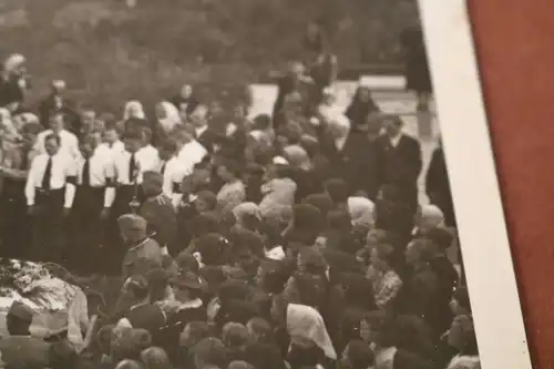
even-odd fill
[(483, 369), (531, 369), (465, 0), (420, 0)]

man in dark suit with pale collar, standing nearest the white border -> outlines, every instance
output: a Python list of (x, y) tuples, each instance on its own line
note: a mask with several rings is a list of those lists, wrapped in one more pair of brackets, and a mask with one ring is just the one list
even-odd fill
[(386, 133), (376, 140), (377, 183), (380, 189), (393, 191), (396, 201), (406, 208), (406, 217), (413, 218), (418, 211), (418, 177), (422, 166), (420, 144), (402, 133), (399, 116), (387, 116), (383, 126)]

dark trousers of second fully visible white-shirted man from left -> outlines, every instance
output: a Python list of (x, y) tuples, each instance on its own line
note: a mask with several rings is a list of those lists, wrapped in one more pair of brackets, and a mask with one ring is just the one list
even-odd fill
[(79, 274), (100, 273), (103, 266), (104, 187), (79, 186), (71, 212), (71, 265)]

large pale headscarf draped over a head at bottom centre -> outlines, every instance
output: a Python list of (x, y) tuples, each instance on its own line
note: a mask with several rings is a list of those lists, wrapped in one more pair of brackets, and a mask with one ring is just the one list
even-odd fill
[(312, 307), (289, 304), (287, 306), (287, 331), (293, 341), (297, 338), (309, 340), (319, 347), (326, 357), (337, 359), (337, 352), (325, 327), (324, 318)]

